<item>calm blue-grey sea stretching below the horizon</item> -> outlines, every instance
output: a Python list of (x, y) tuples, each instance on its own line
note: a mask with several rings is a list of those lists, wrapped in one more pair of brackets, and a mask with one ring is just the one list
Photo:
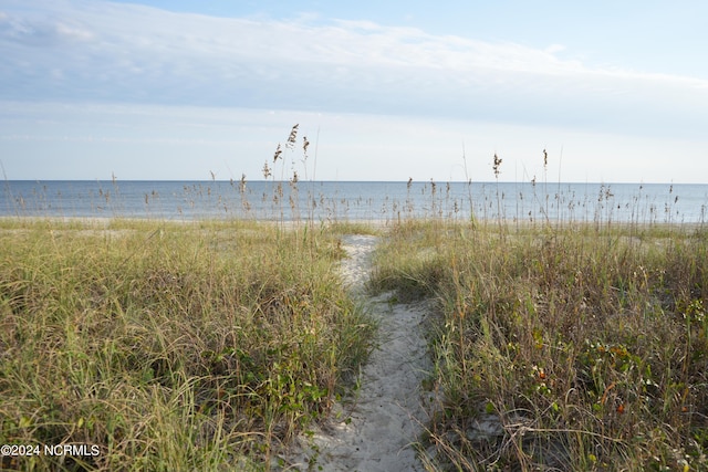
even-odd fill
[(708, 185), (372, 181), (6, 181), (0, 216), (167, 220), (702, 223)]

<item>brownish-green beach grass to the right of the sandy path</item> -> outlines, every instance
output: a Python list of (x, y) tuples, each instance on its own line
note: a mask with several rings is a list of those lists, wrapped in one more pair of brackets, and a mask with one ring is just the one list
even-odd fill
[(429, 470), (708, 469), (702, 227), (407, 221), (369, 289), (436, 301)]

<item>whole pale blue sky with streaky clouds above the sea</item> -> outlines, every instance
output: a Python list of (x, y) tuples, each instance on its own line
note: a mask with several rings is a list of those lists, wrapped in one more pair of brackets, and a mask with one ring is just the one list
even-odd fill
[(0, 0), (1, 170), (492, 181), (497, 155), (500, 181), (708, 183), (706, 18), (702, 0)]

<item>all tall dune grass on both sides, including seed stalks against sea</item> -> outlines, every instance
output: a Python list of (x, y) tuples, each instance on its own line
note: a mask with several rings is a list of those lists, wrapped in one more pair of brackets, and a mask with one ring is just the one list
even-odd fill
[[(371, 349), (335, 270), (339, 235), (369, 231), (362, 211), (389, 224), (371, 287), (437, 301), (429, 469), (708, 469), (708, 233), (702, 212), (675, 224), (673, 188), (663, 211), (642, 187), (628, 212), (608, 186), (552, 197), (544, 151), (543, 191), (534, 177), (516, 208), (497, 155), (492, 197), (466, 170), (466, 195), (409, 179), (400, 199), (353, 200), (301, 187), (296, 139), (262, 193), (246, 176), (185, 186), (179, 216), (206, 202), (214, 219), (166, 222), (154, 191), (146, 220), (121, 220), (135, 202), (114, 178), (91, 202), (112, 220), (0, 221), (0, 443), (100, 449), (3, 469), (273, 465)], [(18, 216), (59, 201), (10, 198)]]

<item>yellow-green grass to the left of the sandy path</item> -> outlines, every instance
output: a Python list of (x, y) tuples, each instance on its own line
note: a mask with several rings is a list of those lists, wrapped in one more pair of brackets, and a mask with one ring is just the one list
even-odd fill
[(327, 413), (374, 326), (342, 230), (0, 222), (0, 443), (19, 470), (263, 470)]

